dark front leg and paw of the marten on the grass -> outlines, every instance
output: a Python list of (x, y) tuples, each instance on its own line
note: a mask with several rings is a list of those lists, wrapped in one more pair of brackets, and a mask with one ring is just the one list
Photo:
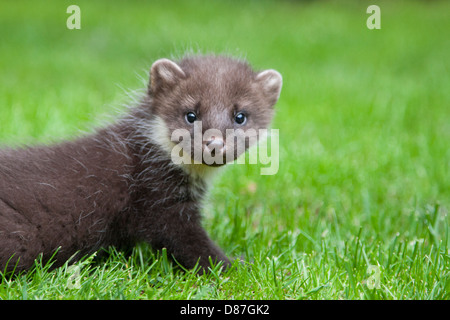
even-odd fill
[(200, 214), (195, 204), (183, 203), (170, 209), (151, 214), (151, 232), (146, 237), (155, 249), (166, 248), (182, 266), (192, 269), (197, 262), (206, 271), (209, 258), (214, 263), (231, 265), (222, 250), (209, 238), (200, 223)]

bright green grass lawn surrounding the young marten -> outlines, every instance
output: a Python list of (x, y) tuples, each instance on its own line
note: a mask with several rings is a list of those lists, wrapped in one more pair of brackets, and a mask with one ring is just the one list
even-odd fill
[(231, 166), (204, 210), (244, 262), (197, 276), (146, 246), (78, 269), (37, 261), (1, 276), (0, 298), (448, 299), (450, 4), (377, 2), (381, 30), (364, 1), (77, 1), (73, 31), (72, 2), (2, 3), (3, 145), (89, 130), (152, 61), (191, 48), (275, 68), (284, 88), (279, 172)]

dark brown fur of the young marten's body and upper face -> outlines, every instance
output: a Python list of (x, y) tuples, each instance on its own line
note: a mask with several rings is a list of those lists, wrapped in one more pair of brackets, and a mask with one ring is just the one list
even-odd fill
[(247, 110), (249, 127), (265, 128), (279, 88), (264, 88), (230, 58), (185, 58), (179, 74), (170, 63), (161, 70), (164, 63), (153, 65), (148, 94), (116, 123), (74, 141), (0, 151), (0, 270), (27, 270), (58, 248), (54, 266), (140, 241), (167, 248), (187, 268), (207, 268), (209, 257), (230, 264), (200, 223), (212, 168), (174, 165), (170, 136), (161, 134), (188, 128), (184, 115), (195, 108), (204, 130), (233, 128), (236, 108)]

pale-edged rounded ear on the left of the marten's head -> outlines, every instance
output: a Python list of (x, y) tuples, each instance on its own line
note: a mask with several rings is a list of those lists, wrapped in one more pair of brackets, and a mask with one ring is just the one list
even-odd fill
[(169, 59), (155, 61), (150, 69), (150, 92), (157, 93), (172, 88), (186, 78), (184, 71)]

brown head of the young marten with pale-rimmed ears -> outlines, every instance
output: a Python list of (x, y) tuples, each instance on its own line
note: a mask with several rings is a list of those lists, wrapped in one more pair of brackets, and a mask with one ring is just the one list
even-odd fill
[(281, 86), (277, 71), (256, 72), (230, 57), (157, 60), (148, 89), (157, 140), (185, 164), (234, 161), (269, 126)]

